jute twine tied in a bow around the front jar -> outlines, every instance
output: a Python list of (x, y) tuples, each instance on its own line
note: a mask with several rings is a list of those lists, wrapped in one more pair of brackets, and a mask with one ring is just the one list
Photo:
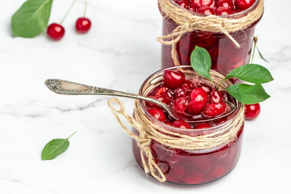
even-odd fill
[[(119, 106), (119, 109), (114, 108), (113, 103), (116, 103)], [(136, 141), (137, 146), (140, 148), (142, 165), (144, 166), (146, 174), (150, 173), (154, 178), (161, 182), (165, 182), (166, 177), (159, 165), (154, 161), (154, 156), (152, 155), (150, 149), (152, 140), (169, 148), (184, 150), (210, 149), (224, 144), (229, 144), (234, 141), (237, 138), (237, 132), (241, 129), (244, 121), (244, 108), (241, 108), (233, 120), (226, 123), (219, 129), (216, 129), (210, 134), (191, 137), (166, 130), (150, 121), (142, 112), (138, 100), (135, 100), (134, 103), (135, 118), (125, 112), (124, 104), (117, 98), (110, 99), (108, 101), (108, 106), (111, 108), (112, 113), (116, 117), (122, 129), (124, 129), (129, 136)], [(127, 129), (127, 127), (121, 122), (118, 114), (125, 117), (129, 124), (138, 131), (138, 135), (135, 135)]]

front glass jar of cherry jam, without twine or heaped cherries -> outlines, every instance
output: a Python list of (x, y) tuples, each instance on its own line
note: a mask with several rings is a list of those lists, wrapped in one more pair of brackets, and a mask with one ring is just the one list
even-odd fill
[[(185, 74), (187, 81), (193, 81), (194, 79), (201, 81), (203, 84), (210, 85), (210, 81), (197, 75), (191, 66), (181, 65), (168, 67), (152, 74), (142, 84), (139, 90), (139, 95), (148, 96), (151, 91), (161, 86), (163, 73), (166, 70), (180, 70)], [(219, 81), (223, 80), (225, 77), (223, 74), (214, 70), (210, 70), (210, 76), (215, 85), (218, 85)], [(233, 82), (231, 81), (225, 81), (221, 85), (221, 89), (226, 89), (232, 84)], [(145, 102), (138, 101), (138, 103), (141, 106), (142, 112), (151, 122), (168, 131), (185, 134), (192, 137), (210, 134), (221, 129), (222, 126), (227, 126), (229, 122), (237, 118), (239, 111), (242, 109), (242, 104), (240, 102), (233, 101), (237, 107), (236, 111), (226, 117), (211, 121), (211, 127), (204, 129), (193, 129), (194, 127), (192, 127), (192, 129), (181, 129), (159, 121), (147, 111)], [(162, 169), (168, 183), (178, 186), (205, 185), (225, 177), (238, 163), (242, 149), (243, 126), (244, 125), (242, 124), (242, 127), (236, 134), (237, 138), (234, 141), (210, 149), (194, 151), (186, 151), (177, 148), (173, 149), (163, 146), (154, 140), (151, 142), (150, 149), (155, 157), (155, 162), (158, 163)], [(133, 132), (138, 135), (138, 131), (134, 128)], [(135, 160), (140, 167), (143, 168), (140, 149), (134, 139), (132, 140), (132, 151)]]

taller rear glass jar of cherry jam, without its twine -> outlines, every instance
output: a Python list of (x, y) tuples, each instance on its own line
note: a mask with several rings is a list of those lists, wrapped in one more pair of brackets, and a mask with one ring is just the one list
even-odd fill
[[(176, 6), (180, 6), (181, 9), (187, 9), (191, 14), (196, 16), (207, 16), (204, 14), (197, 13), (197, 7), (193, 10), (191, 6), (192, 1), (199, 0), (170, 0)], [(185, 1), (186, 4), (182, 3)], [(210, 7), (213, 12), (215, 12), (218, 8), (217, 2), (220, 0), (202, 0), (202, 1), (211, 1), (213, 2)], [(236, 7), (236, 0), (230, 0), (233, 3), (233, 8), (230, 15), (223, 15), (220, 17), (235, 17), (240, 18), (242, 16), (246, 16), (249, 12), (254, 10), (258, 6), (259, 0), (250, 0), (255, 1), (254, 4), (251, 5), (248, 9), (240, 10)], [(188, 2), (188, 3), (187, 3)], [(178, 5), (177, 3), (181, 4)], [(161, 9), (160, 9), (161, 11)], [(162, 12), (161, 12), (162, 13)], [(259, 19), (260, 20), (260, 19)], [(195, 46), (202, 47), (207, 49), (210, 54), (212, 60), (211, 69), (214, 69), (223, 74), (229, 73), (231, 70), (249, 63), (251, 57), (251, 50), (254, 39), (255, 26), (259, 22), (257, 20), (251, 26), (244, 29), (243, 31), (238, 31), (234, 33), (230, 33), (232, 37), (241, 45), (241, 48), (236, 48), (234, 43), (226, 37), (223, 33), (212, 33), (212, 32), (203, 32), (196, 31), (188, 34), (184, 34), (180, 41), (177, 43), (177, 54), (178, 61), (180, 65), (191, 65), (190, 64), (190, 56)], [(167, 35), (178, 27), (172, 19), (163, 16), (162, 21), (162, 35)], [(172, 60), (171, 55), (171, 46), (162, 45), (162, 68), (174, 66), (174, 62)]]

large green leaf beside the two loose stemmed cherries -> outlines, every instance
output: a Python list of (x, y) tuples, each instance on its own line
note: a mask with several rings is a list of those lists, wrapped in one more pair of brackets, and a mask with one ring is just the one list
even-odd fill
[(44, 32), (49, 23), (53, 0), (27, 0), (11, 19), (13, 37), (32, 38)]

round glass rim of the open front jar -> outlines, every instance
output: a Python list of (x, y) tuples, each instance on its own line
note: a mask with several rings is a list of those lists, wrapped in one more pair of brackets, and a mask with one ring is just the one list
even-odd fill
[[(175, 70), (177, 68), (185, 68), (185, 69), (191, 69), (193, 72), (194, 69), (192, 68), (191, 65), (179, 65), (179, 66), (171, 66), (171, 67), (167, 67), (167, 68), (163, 68), (159, 71), (156, 71), (155, 73), (151, 74), (141, 85), (140, 89), (139, 89), (139, 92), (138, 94), (141, 95), (141, 96), (146, 96), (148, 95), (149, 91), (147, 94), (145, 94), (145, 92), (143, 91), (144, 90), (144, 87), (146, 86), (147, 83), (156, 83), (158, 81), (160, 81), (161, 79), (159, 78), (155, 78), (157, 77), (157, 75), (163, 73), (165, 70)], [(217, 71), (214, 71), (214, 70), (210, 70), (210, 75), (211, 74), (217, 74), (219, 76), (222, 76), (222, 77), (225, 77), (224, 74), (222, 73), (219, 73)], [(154, 78), (154, 79), (153, 79)], [(187, 78), (187, 77), (186, 77)], [(226, 81), (225, 81), (226, 82)], [(224, 83), (225, 83), (224, 82)], [(230, 85), (233, 85), (234, 83), (230, 80), (227, 80), (228, 83), (230, 83)], [(162, 83), (162, 82), (161, 82)], [(158, 84), (160, 85), (160, 84)], [(158, 86), (156, 85), (156, 86)], [(155, 117), (153, 117), (150, 113), (148, 113), (148, 111), (146, 110), (146, 107), (145, 107), (145, 104), (142, 100), (138, 100), (138, 103), (139, 103), (139, 106), (141, 107), (141, 110), (142, 112), (146, 115), (147, 118), (150, 118), (152, 121), (154, 121), (155, 123), (158, 123), (160, 126), (164, 127), (164, 128), (171, 128), (171, 129), (174, 129), (175, 131), (180, 131), (180, 132), (191, 132), (191, 131), (208, 131), (208, 130), (213, 130), (213, 129), (217, 129), (223, 125), (226, 125), (227, 123), (231, 122), (234, 117), (239, 113), (239, 111), (242, 109), (242, 103), (235, 100), (236, 102), (236, 106), (237, 106), (237, 109), (234, 113), (231, 114), (231, 116), (229, 117), (229, 119), (227, 121), (225, 121), (224, 123), (221, 123), (219, 125), (216, 125), (216, 126), (213, 126), (213, 127), (210, 127), (210, 128), (204, 128), (204, 129), (181, 129), (181, 128), (177, 128), (177, 127), (173, 127), (173, 126), (169, 126), (161, 121), (159, 121), (158, 119), (156, 119)], [(198, 122), (200, 123), (200, 122)], [(201, 121), (201, 123), (205, 123), (205, 121)]]

